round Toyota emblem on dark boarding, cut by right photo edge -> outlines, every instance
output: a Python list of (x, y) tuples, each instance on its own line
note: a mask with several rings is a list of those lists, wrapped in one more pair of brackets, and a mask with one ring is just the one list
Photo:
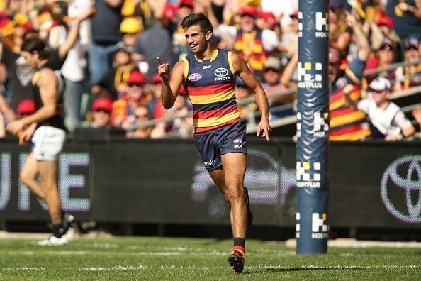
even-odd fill
[[(390, 195), (396, 191), (402, 192), (403, 202), (392, 202)], [(421, 155), (404, 156), (388, 166), (381, 179), (381, 199), (395, 218), (421, 223)]]

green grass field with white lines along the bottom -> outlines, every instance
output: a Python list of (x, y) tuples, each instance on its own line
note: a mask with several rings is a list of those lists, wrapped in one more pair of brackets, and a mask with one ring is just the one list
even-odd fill
[(0, 280), (421, 280), (421, 248), (335, 248), (296, 255), (284, 243), (247, 241), (232, 275), (230, 240), (82, 236), (64, 246), (0, 240)]

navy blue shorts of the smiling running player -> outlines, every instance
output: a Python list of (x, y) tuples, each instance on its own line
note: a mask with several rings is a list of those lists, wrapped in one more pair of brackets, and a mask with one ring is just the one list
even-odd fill
[(222, 166), (220, 155), (226, 153), (247, 154), (245, 135), (246, 124), (244, 120), (213, 131), (194, 133), (194, 143), (206, 170), (213, 171)]

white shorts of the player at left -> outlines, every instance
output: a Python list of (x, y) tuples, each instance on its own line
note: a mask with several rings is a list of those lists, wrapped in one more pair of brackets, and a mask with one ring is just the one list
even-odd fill
[(36, 160), (55, 161), (62, 151), (66, 132), (52, 126), (40, 126), (33, 133), (33, 156)]

